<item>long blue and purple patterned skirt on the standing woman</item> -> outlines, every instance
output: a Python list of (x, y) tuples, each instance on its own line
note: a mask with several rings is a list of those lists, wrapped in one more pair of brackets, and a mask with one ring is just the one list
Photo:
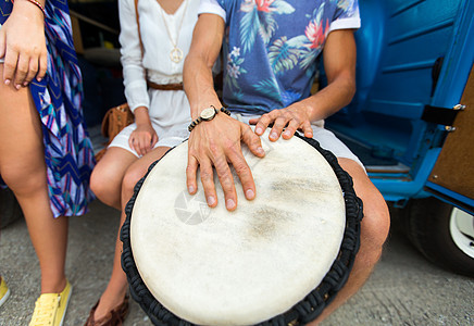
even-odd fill
[[(0, 0), (0, 24), (12, 9), (11, 0)], [(29, 88), (42, 122), (51, 210), (54, 217), (82, 215), (95, 198), (89, 189), (95, 159), (82, 113), (82, 75), (67, 1), (46, 1), (45, 33), (48, 72)]]

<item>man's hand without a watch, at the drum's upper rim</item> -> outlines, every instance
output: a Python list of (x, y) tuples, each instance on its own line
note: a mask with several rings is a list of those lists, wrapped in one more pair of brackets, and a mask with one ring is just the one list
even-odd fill
[[(284, 139), (290, 139), (298, 129), (302, 130), (305, 137), (313, 137), (309, 108), (303, 102), (273, 110), (263, 114), (260, 118), (250, 120), (249, 123), (255, 125), (255, 134), (259, 136), (262, 136), (266, 127), (273, 123), (269, 137), (272, 141), (278, 140), (282, 133)], [(285, 131), (283, 131), (284, 128)]]

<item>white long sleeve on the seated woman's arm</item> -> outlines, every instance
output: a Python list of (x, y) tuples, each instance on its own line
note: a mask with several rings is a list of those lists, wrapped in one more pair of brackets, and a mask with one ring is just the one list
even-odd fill
[(125, 97), (132, 112), (134, 112), (138, 106), (149, 108), (150, 104), (134, 0), (118, 1), (118, 17), (121, 23), (118, 40), (121, 43)]

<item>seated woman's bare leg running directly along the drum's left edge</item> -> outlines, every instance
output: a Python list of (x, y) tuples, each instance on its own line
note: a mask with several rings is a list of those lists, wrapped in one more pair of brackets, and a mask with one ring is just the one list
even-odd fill
[[(149, 152), (140, 160), (130, 165), (127, 170), (124, 180), (122, 183), (122, 215), (121, 215), (121, 227), (125, 222), (124, 209), (128, 200), (134, 193), (134, 187), (137, 181), (147, 173), (148, 167), (151, 163), (163, 156), (163, 154), (169, 150), (165, 147), (155, 148), (153, 151)], [(120, 229), (118, 229), (120, 234)], [(100, 297), (99, 305), (97, 306), (93, 318), (96, 321), (103, 317), (109, 311), (117, 306), (124, 299), (127, 291), (127, 279), (125, 273), (121, 265), (121, 254), (122, 254), (122, 241), (117, 235), (115, 242), (115, 255), (113, 261), (112, 276), (109, 280), (109, 285), (105, 291)]]

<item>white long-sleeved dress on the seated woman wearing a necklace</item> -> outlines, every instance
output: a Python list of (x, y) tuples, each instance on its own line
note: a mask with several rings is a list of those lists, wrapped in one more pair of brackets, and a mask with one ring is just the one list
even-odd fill
[[(120, 0), (121, 61), (124, 73), (125, 97), (132, 111), (148, 108), (151, 125), (158, 135), (157, 147), (174, 147), (188, 138), (191, 123), (189, 102), (183, 90), (147, 89), (148, 79), (155, 84), (183, 83), (183, 64), (191, 45), (192, 30), (198, 20), (199, 0), (185, 0), (174, 14), (164, 12), (157, 0), (139, 0), (138, 13), (144, 58), (141, 58), (134, 0)], [(183, 59), (175, 63), (170, 59), (173, 49), (166, 32), (166, 20), (173, 41), (179, 32), (177, 47)], [(183, 23), (182, 23), (183, 21)], [(182, 25), (179, 29), (179, 25)], [(179, 30), (178, 30), (179, 29)], [(136, 124), (125, 127), (109, 147), (124, 148), (138, 156), (128, 145)]]

